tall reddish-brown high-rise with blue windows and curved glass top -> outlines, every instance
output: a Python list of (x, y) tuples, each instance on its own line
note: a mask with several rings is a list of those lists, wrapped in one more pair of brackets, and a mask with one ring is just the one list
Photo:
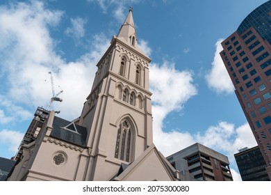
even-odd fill
[(271, 1), (247, 15), (222, 47), (220, 56), (271, 178)]

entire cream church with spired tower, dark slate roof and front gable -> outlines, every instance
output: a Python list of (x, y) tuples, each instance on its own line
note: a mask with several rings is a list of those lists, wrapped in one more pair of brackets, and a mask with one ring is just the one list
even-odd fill
[(81, 116), (68, 121), (38, 107), (8, 180), (180, 180), (153, 143), (150, 62), (130, 9), (97, 63)]

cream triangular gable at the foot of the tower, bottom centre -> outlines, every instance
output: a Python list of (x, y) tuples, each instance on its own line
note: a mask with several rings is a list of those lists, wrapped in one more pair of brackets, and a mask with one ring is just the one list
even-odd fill
[(122, 164), (112, 180), (177, 180), (178, 173), (152, 144), (134, 162)]

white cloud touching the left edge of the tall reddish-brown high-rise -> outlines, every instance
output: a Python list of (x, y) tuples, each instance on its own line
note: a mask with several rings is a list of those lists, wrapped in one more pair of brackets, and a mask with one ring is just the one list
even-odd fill
[(212, 68), (205, 79), (208, 86), (213, 88), (217, 93), (233, 93), (233, 84), (220, 57), (220, 52), (223, 50), (221, 42), (222, 39), (217, 40), (215, 43), (215, 56), (213, 58)]

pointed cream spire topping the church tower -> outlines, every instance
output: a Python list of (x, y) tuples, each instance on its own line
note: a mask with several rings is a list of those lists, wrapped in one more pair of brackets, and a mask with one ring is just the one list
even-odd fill
[(136, 38), (136, 29), (133, 24), (133, 8), (130, 7), (129, 14), (126, 17), (126, 20), (122, 24), (119, 33), (117, 34), (117, 38), (124, 38), (128, 45), (133, 45), (137, 47), (138, 40)]

